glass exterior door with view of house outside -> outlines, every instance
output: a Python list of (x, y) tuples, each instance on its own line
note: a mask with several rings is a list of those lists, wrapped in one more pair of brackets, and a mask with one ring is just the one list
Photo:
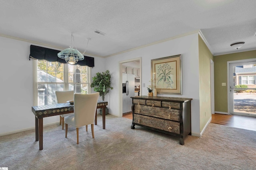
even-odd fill
[(228, 62), (229, 113), (256, 117), (256, 59)]

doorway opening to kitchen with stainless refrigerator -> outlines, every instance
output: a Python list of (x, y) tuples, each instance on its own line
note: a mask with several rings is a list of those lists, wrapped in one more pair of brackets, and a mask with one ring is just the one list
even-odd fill
[(132, 96), (141, 94), (141, 58), (119, 62), (120, 72), (120, 117), (132, 112)]

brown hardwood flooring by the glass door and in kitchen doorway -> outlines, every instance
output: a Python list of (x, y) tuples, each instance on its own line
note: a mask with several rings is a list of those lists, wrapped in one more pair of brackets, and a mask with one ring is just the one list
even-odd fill
[[(123, 117), (132, 119), (132, 112), (123, 114)], [(211, 123), (256, 131), (256, 117), (224, 115), (215, 113), (212, 114)]]

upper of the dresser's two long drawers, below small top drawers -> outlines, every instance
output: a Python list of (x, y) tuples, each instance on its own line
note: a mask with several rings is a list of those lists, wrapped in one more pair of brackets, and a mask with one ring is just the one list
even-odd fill
[(134, 113), (159, 117), (162, 119), (173, 120), (173, 121), (180, 121), (180, 111), (176, 109), (168, 109), (163, 107), (152, 107), (152, 106), (145, 106), (137, 104), (134, 105)]

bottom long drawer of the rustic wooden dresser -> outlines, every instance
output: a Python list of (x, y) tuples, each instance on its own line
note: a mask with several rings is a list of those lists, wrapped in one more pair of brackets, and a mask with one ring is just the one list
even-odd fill
[(180, 134), (180, 123), (178, 122), (138, 114), (134, 114), (133, 116), (134, 123)]

